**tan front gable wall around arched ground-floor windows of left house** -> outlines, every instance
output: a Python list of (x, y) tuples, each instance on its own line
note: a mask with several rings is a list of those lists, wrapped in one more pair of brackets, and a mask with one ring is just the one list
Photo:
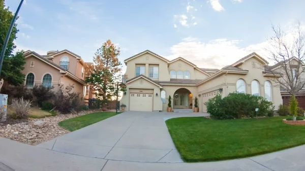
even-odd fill
[[(34, 67), (30, 67), (31, 62), (34, 61)], [(50, 74), (52, 77), (52, 86), (54, 87), (54, 91), (58, 90), (58, 83), (60, 81), (61, 76), (64, 74), (59, 73), (59, 70), (55, 69), (53, 66), (50, 66), (48, 63), (30, 56), (25, 59), (24, 70), (22, 73), (26, 76), (28, 73), (34, 74), (34, 85), (42, 84), (42, 79), (45, 74)], [(25, 82), (24, 82), (25, 84)]]

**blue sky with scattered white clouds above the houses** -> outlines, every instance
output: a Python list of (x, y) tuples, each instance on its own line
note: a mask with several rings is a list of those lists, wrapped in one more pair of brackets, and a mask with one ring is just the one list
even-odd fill
[[(6, 0), (13, 12), (20, 0)], [(271, 23), (289, 32), (305, 22), (299, 0), (25, 0), (19, 12), (17, 49), (46, 54), (68, 49), (92, 62), (110, 39), (119, 60), (146, 49), (168, 59), (221, 69), (264, 48)], [(274, 62), (270, 61), (269, 65)]]

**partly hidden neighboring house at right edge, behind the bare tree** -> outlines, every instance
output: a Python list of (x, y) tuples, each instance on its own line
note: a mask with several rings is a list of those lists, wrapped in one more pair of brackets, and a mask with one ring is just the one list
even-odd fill
[[(286, 59), (285, 61), (280, 61), (278, 63), (276, 63), (275, 65), (272, 66), (268, 66), (268, 69), (271, 72), (277, 72), (277, 73), (282, 73), (283, 76), (280, 78), (280, 81), (282, 83), (286, 83), (288, 80), (286, 71), (285, 71), (285, 63), (286, 63), (286, 68), (288, 69), (290, 78), (296, 77), (298, 76), (298, 85), (300, 86), (300, 90), (298, 92), (296, 92), (295, 97), (298, 101), (298, 106), (303, 108), (305, 110), (305, 73), (304, 73), (304, 69), (305, 69), (305, 64), (298, 60), (298, 58), (296, 57), (291, 57)], [(291, 67), (291, 70), (290, 70)], [(297, 70), (298, 69), (298, 70)], [(299, 72), (299, 74), (297, 74), (297, 72)], [(287, 85), (285, 86), (281, 86), (281, 95), (283, 98), (283, 104), (289, 105), (289, 99), (291, 97), (291, 94), (289, 93), (289, 86)]]

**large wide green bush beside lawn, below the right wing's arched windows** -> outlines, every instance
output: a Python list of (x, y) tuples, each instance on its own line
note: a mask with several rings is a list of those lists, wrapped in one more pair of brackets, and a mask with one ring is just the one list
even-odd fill
[(216, 119), (255, 117), (256, 108), (259, 109), (257, 116), (271, 115), (274, 110), (271, 101), (245, 93), (230, 93), (224, 98), (217, 95), (205, 102), (205, 105), (210, 116)]

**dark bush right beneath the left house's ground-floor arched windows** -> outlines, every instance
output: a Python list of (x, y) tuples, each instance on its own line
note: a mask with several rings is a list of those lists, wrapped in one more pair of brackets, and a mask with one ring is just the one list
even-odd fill
[(51, 99), (54, 96), (53, 87), (44, 87), (42, 84), (33, 87), (33, 100), (35, 104), (42, 107), (42, 102)]

